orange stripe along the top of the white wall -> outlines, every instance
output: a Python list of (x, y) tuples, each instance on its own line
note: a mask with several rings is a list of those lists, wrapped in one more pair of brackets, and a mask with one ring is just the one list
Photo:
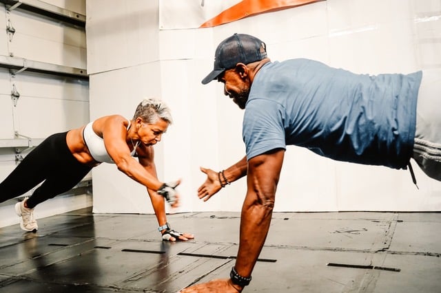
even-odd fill
[(209, 21), (205, 21), (199, 28), (211, 28), (263, 12), (273, 12), (319, 1), (325, 0), (243, 0), (220, 12)]

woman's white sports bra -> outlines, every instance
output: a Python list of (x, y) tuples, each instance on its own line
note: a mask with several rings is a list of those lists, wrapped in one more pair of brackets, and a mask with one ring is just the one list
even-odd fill
[[(89, 122), (83, 129), (83, 140), (89, 149), (90, 155), (92, 155), (92, 158), (94, 158), (96, 162), (114, 164), (112, 158), (110, 158), (109, 153), (107, 153), (107, 150), (105, 149), (103, 138), (100, 138), (99, 135), (95, 133), (92, 124), (94, 124), (94, 121)], [(130, 124), (131, 121), (129, 120), (127, 131), (130, 129)], [(138, 144), (134, 146), (132, 153), (130, 153), (132, 157), (136, 153), (136, 146), (138, 146)]]

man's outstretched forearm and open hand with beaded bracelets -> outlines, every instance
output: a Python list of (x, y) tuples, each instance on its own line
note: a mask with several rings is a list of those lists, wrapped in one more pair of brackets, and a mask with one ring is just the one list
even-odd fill
[(207, 179), (198, 188), (198, 197), (204, 199), (204, 202), (207, 202), (212, 195), (220, 191), (220, 188), (223, 187), (222, 184), (235, 182), (247, 175), (247, 157), (243, 157), (242, 160), (225, 169), (223, 173), (222, 171), (219, 173), (203, 167), (201, 167), (201, 171), (207, 174)]

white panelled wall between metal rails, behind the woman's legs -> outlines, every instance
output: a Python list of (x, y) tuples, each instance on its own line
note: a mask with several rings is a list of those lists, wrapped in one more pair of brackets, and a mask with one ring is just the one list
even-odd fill
[[(45, 2), (85, 14), (84, 0)], [(0, 20), (4, 24), (3, 37), (0, 38), (1, 56), (83, 69), (87, 67), (84, 28), (75, 28), (20, 9), (9, 12), (3, 3), (0, 4)], [(8, 20), (15, 29), (12, 39), (5, 33)], [(0, 68), (0, 140), (13, 139), (14, 131), (30, 138), (46, 138), (55, 132), (80, 127), (90, 120), (88, 80), (26, 70), (19, 74), (14, 72), (17, 70), (10, 72)], [(15, 106), (11, 99), (13, 85), (20, 94)], [(25, 157), (27, 153), (21, 154)], [(15, 166), (15, 149), (0, 148), (0, 180), (6, 178)], [(13, 204), (12, 201), (0, 206), (0, 226), (18, 223), (19, 217), (14, 213)], [(61, 196), (38, 206), (34, 215), (38, 219), (90, 205), (90, 195)]]

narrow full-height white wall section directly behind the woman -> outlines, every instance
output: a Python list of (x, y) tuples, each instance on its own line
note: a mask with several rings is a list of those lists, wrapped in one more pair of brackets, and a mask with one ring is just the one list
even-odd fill
[[(161, 96), (158, 3), (93, 0), (86, 1), (86, 10), (91, 119), (111, 114), (131, 119), (143, 98)], [(163, 145), (155, 147), (160, 178)], [(114, 164), (101, 164), (92, 177), (94, 213), (153, 212), (145, 187)]]

